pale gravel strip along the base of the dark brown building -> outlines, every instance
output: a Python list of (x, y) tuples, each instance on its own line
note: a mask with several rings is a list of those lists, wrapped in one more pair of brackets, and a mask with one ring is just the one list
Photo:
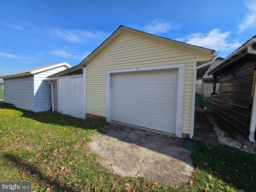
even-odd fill
[(213, 130), (218, 136), (218, 141), (220, 142), (220, 144), (235, 147), (245, 152), (256, 153), (256, 143), (252, 143), (249, 140), (244, 139), (241, 135), (237, 136), (237, 140), (226, 137), (225, 132), (218, 128), (217, 123), (212, 115), (207, 114), (207, 118), (209, 122), (213, 125)]

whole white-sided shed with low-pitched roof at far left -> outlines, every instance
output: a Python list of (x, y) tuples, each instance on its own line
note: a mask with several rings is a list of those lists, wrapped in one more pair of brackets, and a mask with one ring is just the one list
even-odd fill
[(68, 68), (70, 64), (64, 62), (0, 76), (4, 79), (4, 102), (33, 112), (50, 110), (52, 91), (46, 77)]

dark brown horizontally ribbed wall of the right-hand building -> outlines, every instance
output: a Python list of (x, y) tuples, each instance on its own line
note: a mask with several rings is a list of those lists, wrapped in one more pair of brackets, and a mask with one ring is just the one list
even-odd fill
[(252, 112), (254, 63), (220, 78), (219, 96), (212, 96), (212, 111), (244, 134)]

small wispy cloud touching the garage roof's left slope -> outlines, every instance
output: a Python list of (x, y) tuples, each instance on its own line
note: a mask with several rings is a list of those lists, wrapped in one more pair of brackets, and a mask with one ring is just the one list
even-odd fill
[(76, 50), (71, 50), (71, 49), (66, 48), (66, 50), (58, 49), (58, 50), (52, 51), (52, 52), (50, 52), (50, 54), (60, 56), (60, 57), (66, 58), (66, 59), (82, 60), (82, 59), (86, 58), (86, 56), (88, 56), (88, 54), (90, 54), (90, 53), (89, 52), (80, 53), (80, 52), (77, 52)]

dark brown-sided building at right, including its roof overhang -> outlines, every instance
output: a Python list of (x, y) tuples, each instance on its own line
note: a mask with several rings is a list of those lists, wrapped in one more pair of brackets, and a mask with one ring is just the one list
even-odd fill
[(226, 57), (209, 75), (220, 81), (212, 111), (256, 141), (256, 36)]

